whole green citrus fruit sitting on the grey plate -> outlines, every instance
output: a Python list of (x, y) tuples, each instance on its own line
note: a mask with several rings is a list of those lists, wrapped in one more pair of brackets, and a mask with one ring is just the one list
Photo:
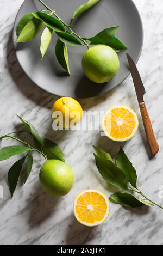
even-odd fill
[(87, 50), (82, 59), (84, 74), (95, 83), (109, 82), (120, 68), (117, 53), (109, 46), (96, 45)]

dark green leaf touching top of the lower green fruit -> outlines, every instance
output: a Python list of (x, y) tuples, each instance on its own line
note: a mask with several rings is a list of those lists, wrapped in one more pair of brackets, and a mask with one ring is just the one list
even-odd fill
[[(35, 139), (34, 142), (36, 144), (37, 149), (40, 150), (40, 143), (37, 143)], [(65, 162), (64, 154), (55, 142), (50, 141), (49, 139), (43, 137), (41, 137), (41, 142), (43, 147), (43, 153), (47, 155), (47, 159), (57, 159), (62, 162)]]

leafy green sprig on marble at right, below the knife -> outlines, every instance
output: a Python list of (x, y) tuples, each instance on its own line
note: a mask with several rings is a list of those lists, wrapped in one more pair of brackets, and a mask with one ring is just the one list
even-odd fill
[[(117, 154), (116, 164), (112, 160), (112, 157), (109, 153), (96, 148), (93, 146), (96, 151), (95, 160), (96, 166), (99, 173), (102, 175), (104, 180), (109, 182), (111, 185), (132, 193), (123, 193), (116, 192), (111, 194), (110, 199), (117, 204), (126, 207), (140, 207), (143, 205), (153, 206), (157, 205), (161, 209), (162, 206), (154, 203), (151, 199), (147, 198), (140, 190), (137, 188), (137, 175), (136, 170), (133, 167), (133, 164), (129, 161), (127, 155), (124, 153), (122, 147)], [(135, 197), (133, 192), (138, 193), (141, 199)]]

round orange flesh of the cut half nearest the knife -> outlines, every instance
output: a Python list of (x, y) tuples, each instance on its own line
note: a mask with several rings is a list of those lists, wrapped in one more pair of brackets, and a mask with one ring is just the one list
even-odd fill
[(129, 137), (136, 121), (133, 113), (126, 108), (113, 108), (105, 117), (105, 128), (108, 134), (116, 139)]

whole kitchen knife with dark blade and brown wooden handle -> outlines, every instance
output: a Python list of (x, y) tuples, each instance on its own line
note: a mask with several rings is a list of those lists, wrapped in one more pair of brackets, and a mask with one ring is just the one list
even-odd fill
[(146, 93), (145, 87), (143, 86), (141, 77), (139, 75), (139, 71), (137, 70), (133, 59), (131, 59), (131, 57), (129, 56), (128, 53), (126, 53), (126, 54), (127, 54), (127, 59), (128, 59), (131, 75), (133, 77), (137, 100), (139, 102), (140, 112), (141, 112), (141, 116), (142, 116), (142, 120), (143, 120), (143, 125), (145, 127), (149, 147), (151, 148), (152, 155), (154, 156), (159, 151), (159, 145), (156, 142), (154, 132), (152, 129), (151, 120), (149, 119), (147, 108), (146, 108), (145, 102), (143, 100), (143, 95)]

